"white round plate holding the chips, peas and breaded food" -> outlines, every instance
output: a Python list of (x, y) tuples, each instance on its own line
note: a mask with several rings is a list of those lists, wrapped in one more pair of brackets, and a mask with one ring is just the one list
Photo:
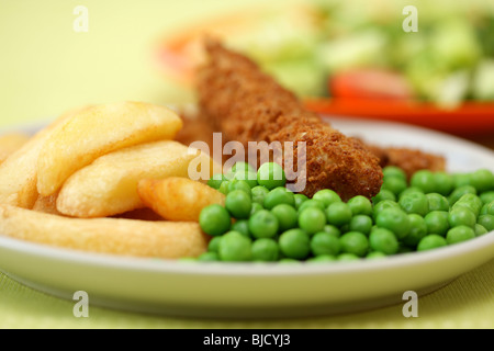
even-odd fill
[[(450, 171), (494, 170), (494, 152), (462, 139), (391, 123), (332, 118), (378, 145), (444, 154)], [(425, 252), (328, 264), (184, 263), (90, 254), (0, 237), (0, 269), (43, 292), (91, 304), (193, 317), (273, 318), (404, 303), (494, 258), (494, 233)]]

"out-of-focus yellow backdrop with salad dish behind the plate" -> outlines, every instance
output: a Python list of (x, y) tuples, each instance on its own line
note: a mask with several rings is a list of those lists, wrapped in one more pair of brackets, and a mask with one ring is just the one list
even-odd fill
[(492, 0), (0, 0), (0, 126), (88, 103), (193, 102), (198, 38), (211, 32), (313, 111), (494, 148)]

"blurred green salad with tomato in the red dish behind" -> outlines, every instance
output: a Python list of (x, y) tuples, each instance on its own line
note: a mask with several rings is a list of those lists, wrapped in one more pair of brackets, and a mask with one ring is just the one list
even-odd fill
[(317, 0), (227, 38), (301, 97), (494, 101), (494, 2)]

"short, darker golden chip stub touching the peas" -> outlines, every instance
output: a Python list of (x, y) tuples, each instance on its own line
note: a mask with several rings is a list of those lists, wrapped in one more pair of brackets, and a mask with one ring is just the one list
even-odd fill
[(184, 178), (145, 179), (137, 191), (145, 205), (168, 220), (199, 222), (202, 208), (225, 203), (223, 193)]

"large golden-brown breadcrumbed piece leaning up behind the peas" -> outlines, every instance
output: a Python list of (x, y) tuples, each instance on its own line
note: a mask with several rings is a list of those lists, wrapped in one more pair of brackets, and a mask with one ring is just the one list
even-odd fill
[(372, 197), (380, 191), (383, 174), (379, 159), (359, 140), (305, 110), (292, 92), (249, 58), (213, 39), (205, 41), (205, 49), (209, 58), (197, 75), (200, 109), (226, 139), (245, 147), (248, 141), (280, 141), (283, 147), (284, 141), (293, 141), (296, 148), (297, 141), (305, 141), (306, 157), (302, 160), (295, 148), (284, 147), (283, 151), (284, 158), (293, 157), (293, 163), (304, 168), (306, 186), (301, 192), (307, 196), (322, 189), (333, 189), (344, 200)]

